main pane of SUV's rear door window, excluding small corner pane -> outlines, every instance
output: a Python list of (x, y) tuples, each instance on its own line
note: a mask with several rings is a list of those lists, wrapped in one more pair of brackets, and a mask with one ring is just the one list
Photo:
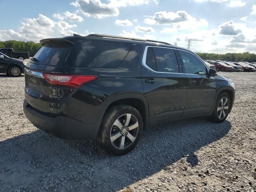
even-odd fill
[(178, 62), (173, 49), (154, 48), (159, 72), (178, 73)]

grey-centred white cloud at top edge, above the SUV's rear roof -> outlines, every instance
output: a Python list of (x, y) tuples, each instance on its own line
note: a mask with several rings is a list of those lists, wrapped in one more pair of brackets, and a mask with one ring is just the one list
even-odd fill
[(104, 4), (100, 0), (76, 0), (70, 4), (88, 17), (104, 18), (119, 15), (118, 8), (110, 4)]

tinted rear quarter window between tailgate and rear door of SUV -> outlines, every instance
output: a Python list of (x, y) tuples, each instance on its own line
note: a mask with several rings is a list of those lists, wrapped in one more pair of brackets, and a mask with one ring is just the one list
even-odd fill
[(84, 40), (76, 56), (76, 67), (116, 68), (128, 54), (131, 44)]

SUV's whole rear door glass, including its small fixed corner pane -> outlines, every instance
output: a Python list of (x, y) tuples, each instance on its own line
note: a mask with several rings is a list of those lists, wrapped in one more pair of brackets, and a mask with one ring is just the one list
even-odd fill
[(177, 58), (173, 49), (149, 47), (146, 65), (157, 72), (179, 72)]

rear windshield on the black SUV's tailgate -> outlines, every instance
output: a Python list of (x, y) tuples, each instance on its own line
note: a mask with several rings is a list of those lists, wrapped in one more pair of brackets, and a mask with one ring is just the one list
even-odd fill
[[(34, 55), (35, 63), (52, 66), (65, 66), (65, 60), (72, 44), (65, 42), (47, 43)], [(34, 61), (30, 61), (34, 62)]]

